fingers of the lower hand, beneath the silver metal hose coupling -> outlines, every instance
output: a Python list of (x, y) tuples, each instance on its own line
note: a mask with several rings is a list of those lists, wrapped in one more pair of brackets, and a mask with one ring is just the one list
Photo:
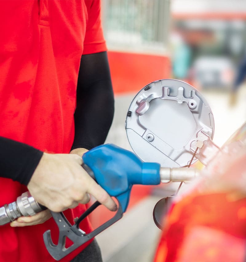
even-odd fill
[(17, 220), (10, 223), (11, 227), (26, 227), (42, 224), (51, 218), (49, 210), (42, 211), (33, 216), (21, 216)]

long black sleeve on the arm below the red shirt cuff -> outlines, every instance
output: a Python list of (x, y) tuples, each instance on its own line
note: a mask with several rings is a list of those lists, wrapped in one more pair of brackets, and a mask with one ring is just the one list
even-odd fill
[(113, 113), (114, 97), (107, 52), (82, 55), (72, 149), (92, 149), (103, 144), (112, 124)]

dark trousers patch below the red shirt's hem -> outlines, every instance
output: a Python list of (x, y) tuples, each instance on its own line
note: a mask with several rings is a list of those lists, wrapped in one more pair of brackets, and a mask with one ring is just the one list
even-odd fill
[(101, 250), (97, 241), (93, 241), (81, 253), (74, 257), (71, 262), (102, 262)]

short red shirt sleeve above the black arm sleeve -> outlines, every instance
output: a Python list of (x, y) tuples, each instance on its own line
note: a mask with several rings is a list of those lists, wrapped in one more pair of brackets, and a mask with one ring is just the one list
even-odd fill
[(107, 51), (101, 26), (101, 1), (85, 1), (88, 22), (85, 32), (83, 55)]

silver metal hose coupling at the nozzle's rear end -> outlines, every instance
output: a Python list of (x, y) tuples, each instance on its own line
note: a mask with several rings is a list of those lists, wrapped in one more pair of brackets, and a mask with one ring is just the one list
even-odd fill
[(0, 207), (0, 225), (5, 225), (20, 216), (35, 215), (44, 210), (30, 195), (29, 192), (23, 193), (16, 201)]

